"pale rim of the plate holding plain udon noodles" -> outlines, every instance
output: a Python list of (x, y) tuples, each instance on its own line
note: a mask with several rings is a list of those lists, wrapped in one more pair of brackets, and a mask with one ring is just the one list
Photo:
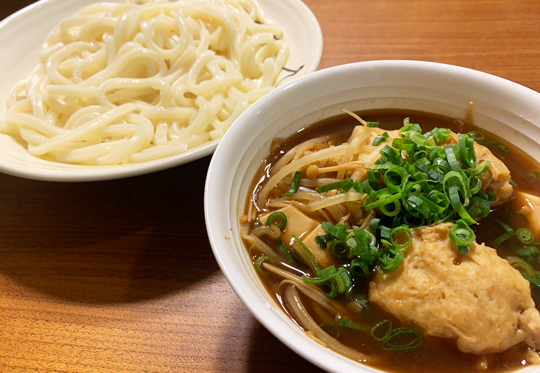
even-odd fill
[[(81, 8), (86, 5), (94, 3), (92, 0), (76, 0)], [(122, 2), (122, 0), (112, 0), (113, 2)], [(267, 4), (272, 4), (274, 0), (264, 0)], [(63, 0), (39, 0), (35, 3), (29, 4), (12, 13), (8, 17), (5, 17), (0, 21), (0, 33), (4, 30), (9, 30), (9, 27), (17, 22), (23, 22), (25, 17), (31, 16), (35, 12), (42, 11), (44, 8), (51, 8), (61, 5)], [(320, 65), (323, 52), (323, 37), (322, 29), (318, 19), (315, 17), (313, 11), (302, 0), (280, 0), (281, 5), (287, 6), (296, 15), (301, 15), (301, 18), (310, 25), (311, 36), (311, 49), (312, 52), (307, 53), (313, 55), (315, 58), (305, 60), (305, 71), (315, 71)], [(266, 10), (264, 4), (261, 5), (262, 10)], [(270, 8), (270, 6), (268, 6)], [(313, 48), (315, 46), (315, 48)], [(298, 78), (293, 78), (298, 79)], [(278, 88), (276, 88), (278, 89)], [(231, 125), (231, 127), (234, 123)], [(0, 137), (8, 139), (10, 135), (0, 134)], [(17, 165), (14, 162), (0, 158), (0, 172), (25, 178), (31, 180), (42, 181), (57, 181), (57, 182), (84, 182), (84, 181), (103, 181), (103, 180), (116, 180), (134, 177), (138, 175), (145, 175), (153, 172), (163, 171), (164, 169), (173, 168), (192, 162), (201, 158), (211, 155), (221, 139), (210, 140), (207, 143), (195, 146), (188, 149), (184, 153), (172, 155), (166, 158), (155, 159), (140, 163), (129, 163), (122, 165), (112, 166), (86, 166), (86, 165), (72, 165), (65, 164), (63, 162), (48, 161), (46, 167), (38, 168), (38, 166), (24, 161), (24, 166)], [(35, 158), (30, 154), (26, 155), (30, 158)], [(39, 159), (41, 160), (41, 159)], [(70, 168), (74, 167), (74, 168)]]

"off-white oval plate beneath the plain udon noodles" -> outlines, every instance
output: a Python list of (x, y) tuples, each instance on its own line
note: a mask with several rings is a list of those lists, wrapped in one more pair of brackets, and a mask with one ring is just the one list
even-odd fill
[[(122, 2), (112, 0), (113, 2)], [(181, 1), (181, 0), (180, 0)], [(287, 65), (302, 66), (296, 77), (317, 70), (322, 56), (320, 25), (300, 0), (258, 0), (268, 18), (278, 22), (295, 45)], [(9, 90), (24, 79), (38, 63), (38, 51), (47, 33), (59, 21), (96, 0), (41, 0), (0, 22), (0, 120), (5, 118)], [(284, 83), (292, 78), (285, 79)], [(234, 124), (233, 124), (234, 125)], [(185, 153), (140, 164), (82, 166), (33, 157), (9, 135), (0, 134), (0, 172), (46, 181), (98, 181), (143, 175), (179, 166), (210, 155), (219, 140), (194, 147)]]

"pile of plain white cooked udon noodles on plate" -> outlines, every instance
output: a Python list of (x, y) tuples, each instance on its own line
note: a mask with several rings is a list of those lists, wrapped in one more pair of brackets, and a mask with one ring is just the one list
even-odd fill
[(93, 4), (46, 37), (0, 131), (73, 164), (179, 154), (272, 90), (290, 48), (254, 0)]

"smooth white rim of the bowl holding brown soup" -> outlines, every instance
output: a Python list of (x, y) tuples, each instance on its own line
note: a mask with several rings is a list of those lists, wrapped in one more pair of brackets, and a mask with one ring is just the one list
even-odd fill
[[(270, 331), (278, 340), (287, 345), (288, 348), (292, 349), (296, 354), (302, 356), (309, 362), (315, 364), (321, 369), (324, 369), (329, 372), (338, 372), (343, 369), (353, 369), (366, 372), (381, 372), (379, 369), (370, 367), (369, 365), (357, 363), (353, 360), (350, 360), (346, 357), (343, 357), (340, 354), (326, 348), (322, 347), (318, 343), (309, 340), (307, 336), (301, 338), (302, 341), (298, 339), (294, 340), (295, 333), (290, 330), (290, 328), (279, 328), (275, 325), (279, 325), (280, 318), (278, 316), (279, 310), (274, 306), (268, 307), (265, 303), (265, 300), (260, 297), (253, 296), (257, 291), (254, 289), (254, 286), (250, 282), (245, 282), (242, 278), (242, 275), (232, 272), (228, 269), (232, 259), (227, 255), (228, 249), (227, 244), (223, 237), (218, 236), (218, 226), (220, 225), (220, 216), (229, 214), (230, 204), (226, 202), (225, 204), (216, 205), (218, 207), (211, 207), (212, 202), (217, 201), (218, 195), (223, 195), (219, 193), (219, 189), (223, 188), (223, 183), (213, 183), (212, 181), (219, 180), (220, 169), (224, 169), (230, 164), (225, 163), (226, 155), (228, 153), (234, 153), (233, 164), (237, 160), (240, 160), (243, 157), (244, 147), (234, 148), (234, 152), (231, 151), (229, 143), (233, 141), (234, 137), (241, 136), (242, 131), (246, 131), (249, 127), (249, 123), (257, 123), (254, 121), (255, 115), (262, 110), (265, 106), (271, 106), (276, 98), (283, 94), (284, 91), (288, 90), (287, 94), (294, 96), (302, 90), (306, 89), (312, 82), (319, 79), (325, 79), (332, 77), (334, 74), (352, 72), (357, 69), (376, 69), (378, 67), (400, 67), (403, 69), (423, 69), (426, 73), (436, 74), (456, 74), (465, 78), (471, 78), (483, 83), (485, 85), (491, 85), (494, 90), (509, 90), (513, 93), (517, 93), (523, 97), (528, 97), (528, 100), (537, 100), (540, 102), (540, 93), (532, 90), (528, 87), (525, 87), (521, 84), (511, 82), (508, 79), (504, 79), (493, 74), (486, 72), (469, 69), (468, 67), (436, 63), (436, 62), (427, 62), (420, 60), (372, 60), (365, 62), (356, 62), (345, 65), (333, 66), (327, 69), (319, 70), (306, 76), (300, 77), (293, 82), (284, 85), (269, 94), (264, 98), (257, 101), (254, 105), (248, 108), (241, 116), (237, 119), (237, 125), (232, 128), (232, 131), (228, 131), (225, 136), (222, 138), (221, 143), (218, 145), (217, 150), (214, 152), (214, 156), (208, 167), (207, 179), (205, 184), (204, 192), (204, 212), (205, 212), (205, 221), (206, 229), (208, 233), (208, 239), (212, 247), (214, 256), (218, 262), (219, 267), (224, 273), (227, 281), (231, 284), (232, 289), (238, 295), (242, 303), (249, 309), (252, 315), (257, 318), (257, 320), (264, 325), (264, 327)], [(246, 147), (248, 144), (246, 144)], [(228, 161), (231, 159), (229, 158)], [(234, 174), (234, 172), (232, 173)], [(234, 179), (234, 176), (226, 179), (227, 185)], [(219, 186), (217, 185), (219, 184)], [(215, 187), (214, 187), (215, 185)], [(223, 214), (217, 213), (218, 211), (226, 211)], [(222, 225), (222, 222), (221, 222)], [(215, 227), (215, 228), (214, 228)], [(230, 227), (226, 227), (227, 230)], [(215, 233), (214, 233), (215, 232)], [(232, 240), (231, 240), (232, 241)], [(287, 316), (288, 317), (288, 316)], [(301, 330), (300, 328), (297, 328)], [(293, 343), (293, 340), (295, 343)], [(300, 342), (300, 343), (299, 343)], [(313, 342), (310, 344), (309, 342)], [(314, 347), (314, 346), (318, 347)], [(359, 365), (361, 364), (361, 365)]]

